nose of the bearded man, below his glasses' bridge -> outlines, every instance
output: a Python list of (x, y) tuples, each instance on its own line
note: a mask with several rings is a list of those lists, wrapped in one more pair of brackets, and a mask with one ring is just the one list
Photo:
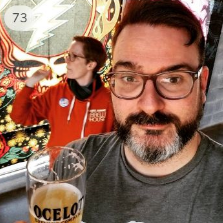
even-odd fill
[(139, 97), (138, 107), (148, 115), (153, 115), (155, 112), (164, 109), (164, 100), (157, 93), (153, 82), (148, 80), (142, 95)]

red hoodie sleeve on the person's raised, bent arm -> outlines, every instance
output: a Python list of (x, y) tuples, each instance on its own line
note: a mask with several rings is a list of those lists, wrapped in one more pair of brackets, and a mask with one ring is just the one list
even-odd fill
[(17, 95), (13, 102), (12, 120), (16, 124), (35, 125), (47, 119), (47, 99), (41, 95), (32, 99), (33, 88), (25, 86)]

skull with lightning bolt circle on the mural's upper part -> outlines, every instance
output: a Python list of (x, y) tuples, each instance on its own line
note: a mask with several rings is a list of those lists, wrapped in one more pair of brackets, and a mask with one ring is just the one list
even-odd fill
[(20, 80), (50, 66), (52, 75), (37, 86), (43, 92), (65, 79), (63, 54), (73, 36), (93, 36), (106, 45), (119, 14), (119, 0), (1, 0), (0, 61)]

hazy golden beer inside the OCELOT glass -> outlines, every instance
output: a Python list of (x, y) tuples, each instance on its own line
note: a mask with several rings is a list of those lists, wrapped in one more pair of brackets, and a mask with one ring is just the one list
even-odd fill
[(80, 223), (84, 197), (68, 183), (47, 184), (33, 191), (31, 223)]

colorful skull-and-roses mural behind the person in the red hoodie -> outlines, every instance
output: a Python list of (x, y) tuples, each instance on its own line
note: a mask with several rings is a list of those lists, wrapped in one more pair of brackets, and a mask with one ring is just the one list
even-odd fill
[(119, 0), (0, 1), (0, 168), (27, 160), (49, 138), (47, 121), (21, 126), (10, 118), (26, 78), (42, 65), (53, 71), (35, 86), (34, 97), (64, 81), (63, 54), (75, 35), (102, 41), (108, 54), (103, 76), (111, 66), (111, 36), (120, 12)]

